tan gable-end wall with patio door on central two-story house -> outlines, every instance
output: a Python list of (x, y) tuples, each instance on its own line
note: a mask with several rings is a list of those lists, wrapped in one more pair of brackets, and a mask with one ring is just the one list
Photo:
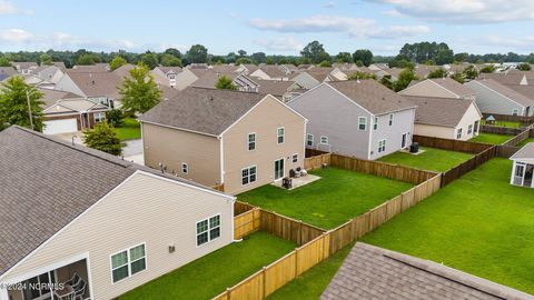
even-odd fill
[[(277, 129), (284, 127), (283, 144), (277, 144)], [(248, 151), (248, 133), (256, 133), (256, 150)], [(222, 136), (225, 191), (237, 194), (274, 181), (275, 160), (284, 158), (285, 176), (304, 167), (305, 119), (276, 98), (268, 96)], [(291, 162), (291, 156), (298, 161)], [(241, 169), (256, 166), (257, 181), (241, 186)]]

